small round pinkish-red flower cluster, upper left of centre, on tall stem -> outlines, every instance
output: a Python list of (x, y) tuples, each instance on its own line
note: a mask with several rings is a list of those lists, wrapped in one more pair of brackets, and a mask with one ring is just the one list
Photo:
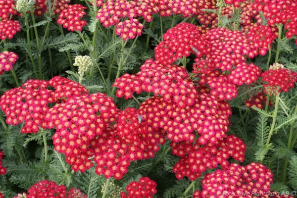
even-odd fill
[(139, 23), (137, 19), (130, 19), (119, 22), (116, 25), (115, 33), (126, 41), (127, 39), (134, 39), (136, 35), (141, 36), (143, 28), (143, 24)]

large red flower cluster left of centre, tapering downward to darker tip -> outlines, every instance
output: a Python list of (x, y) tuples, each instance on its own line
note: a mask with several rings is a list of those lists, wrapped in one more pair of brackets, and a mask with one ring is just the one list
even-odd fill
[(104, 94), (81, 95), (56, 104), (47, 111), (48, 128), (55, 128), (55, 150), (66, 155), (74, 171), (84, 172), (93, 166), (96, 137), (114, 121), (116, 105)]

